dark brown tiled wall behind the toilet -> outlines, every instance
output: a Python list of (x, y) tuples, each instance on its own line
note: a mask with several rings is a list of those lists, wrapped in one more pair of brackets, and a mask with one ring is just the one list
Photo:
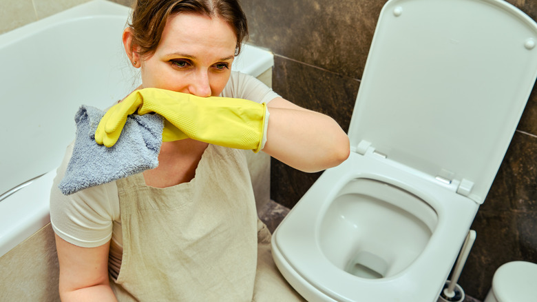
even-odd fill
[[(275, 53), (274, 90), (298, 105), (330, 114), (348, 130), (370, 41), (386, 1), (241, 2), (249, 17), (249, 42)], [(537, 1), (509, 3), (536, 19)], [(292, 208), (319, 175), (273, 160), (271, 198)], [(537, 263), (535, 91), (472, 228), (477, 239), (459, 281), (470, 296), (483, 300), (494, 271), (507, 261)]]

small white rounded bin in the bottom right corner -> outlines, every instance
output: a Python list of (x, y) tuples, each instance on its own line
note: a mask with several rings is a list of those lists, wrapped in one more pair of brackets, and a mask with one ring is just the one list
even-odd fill
[(537, 264), (512, 261), (494, 273), (485, 302), (533, 302), (537, 297)]

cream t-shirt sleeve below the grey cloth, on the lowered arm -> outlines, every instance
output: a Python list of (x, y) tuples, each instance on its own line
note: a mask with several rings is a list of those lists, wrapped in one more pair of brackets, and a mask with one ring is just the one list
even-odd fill
[(117, 186), (115, 182), (64, 195), (58, 188), (63, 179), (73, 144), (67, 147), (50, 191), (50, 222), (61, 239), (81, 246), (94, 248), (112, 238), (112, 225), (119, 216)]

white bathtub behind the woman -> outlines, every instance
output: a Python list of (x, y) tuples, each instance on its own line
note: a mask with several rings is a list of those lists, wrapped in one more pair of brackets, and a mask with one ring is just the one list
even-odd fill
[[(50, 222), (79, 105), (107, 108), (140, 83), (121, 43), (128, 14), (94, 0), (0, 35), (0, 257)], [(272, 66), (271, 52), (245, 45), (233, 70), (259, 77)]]

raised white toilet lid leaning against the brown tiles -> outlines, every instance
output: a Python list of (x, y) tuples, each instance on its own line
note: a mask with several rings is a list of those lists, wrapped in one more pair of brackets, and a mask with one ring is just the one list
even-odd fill
[(536, 79), (536, 43), (536, 23), (505, 1), (389, 1), (352, 114), (351, 148), (370, 143), (483, 203)]

